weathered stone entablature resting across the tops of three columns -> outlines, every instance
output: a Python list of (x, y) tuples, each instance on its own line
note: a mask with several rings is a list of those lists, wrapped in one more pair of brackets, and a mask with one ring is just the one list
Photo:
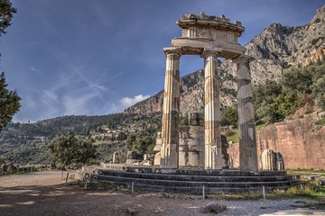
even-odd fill
[(180, 47), (182, 55), (200, 55), (203, 49), (219, 49), (218, 57), (236, 58), (245, 48), (237, 38), (245, 31), (240, 22), (230, 23), (228, 18), (206, 14), (185, 14), (176, 22), (181, 27), (181, 37), (172, 40)]

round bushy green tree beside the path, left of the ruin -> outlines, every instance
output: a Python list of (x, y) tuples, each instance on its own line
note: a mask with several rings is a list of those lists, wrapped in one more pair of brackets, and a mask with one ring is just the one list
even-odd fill
[(54, 159), (61, 163), (60, 168), (72, 163), (87, 163), (90, 159), (98, 157), (96, 146), (92, 145), (92, 141), (73, 132), (52, 139), (48, 148)]

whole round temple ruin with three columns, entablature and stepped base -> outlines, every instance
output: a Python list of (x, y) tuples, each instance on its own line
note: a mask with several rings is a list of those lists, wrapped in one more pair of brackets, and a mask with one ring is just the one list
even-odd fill
[[(151, 192), (202, 193), (203, 196), (208, 193), (260, 191), (262, 186), (265, 190), (288, 188), (294, 180), (281, 171), (284, 164), (280, 155), (275, 159), (274, 154), (266, 152), (262, 159), (265, 163), (261, 165), (264, 171), (257, 171), (249, 70), (251, 58), (244, 55), (245, 49), (237, 43), (237, 37), (244, 31), (241, 23), (230, 23), (224, 16), (189, 14), (182, 15), (177, 24), (182, 30), (181, 37), (172, 40), (171, 48), (163, 49), (166, 54), (163, 129), (157, 134), (157, 145), (153, 149), (157, 152), (154, 164), (161, 167), (144, 166), (143, 162), (138, 166), (108, 163), (100, 167), (83, 166), (80, 176), (91, 176), (98, 183)], [(205, 61), (204, 117), (197, 112), (190, 113), (189, 125), (186, 126), (180, 126), (179, 117), (181, 55), (200, 55)], [(232, 160), (223, 157), (227, 151), (220, 134), (218, 57), (233, 59), (237, 65), (241, 170), (219, 170), (225, 165), (224, 161), (230, 161), (227, 165), (230, 166)], [(136, 160), (132, 152), (127, 158)], [(115, 160), (118, 162), (118, 154)], [(180, 166), (192, 167), (184, 169)]]

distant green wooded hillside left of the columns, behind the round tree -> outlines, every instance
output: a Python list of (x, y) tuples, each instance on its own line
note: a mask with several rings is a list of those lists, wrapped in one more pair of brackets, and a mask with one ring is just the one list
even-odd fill
[(116, 113), (102, 116), (62, 116), (35, 123), (10, 123), (0, 133), (0, 158), (16, 164), (51, 163), (47, 144), (68, 131), (94, 139), (100, 161), (112, 159), (113, 152), (127, 150), (128, 134), (158, 130), (161, 115)]

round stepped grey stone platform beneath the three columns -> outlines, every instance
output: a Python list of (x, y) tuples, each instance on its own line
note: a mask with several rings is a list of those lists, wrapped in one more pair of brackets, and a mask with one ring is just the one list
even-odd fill
[(240, 170), (200, 170), (161, 169), (141, 166), (84, 166), (83, 175), (91, 175), (94, 182), (131, 187), (150, 192), (175, 193), (240, 193), (286, 189), (295, 180), (285, 171), (240, 171)]

